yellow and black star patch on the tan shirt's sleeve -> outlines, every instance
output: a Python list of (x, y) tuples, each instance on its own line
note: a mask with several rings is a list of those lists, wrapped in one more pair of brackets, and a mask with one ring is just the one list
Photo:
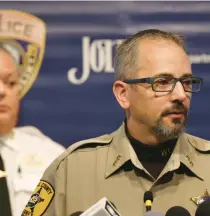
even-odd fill
[(47, 181), (41, 180), (31, 195), (31, 198), (21, 216), (43, 215), (50, 205), (54, 195), (55, 190), (52, 185)]

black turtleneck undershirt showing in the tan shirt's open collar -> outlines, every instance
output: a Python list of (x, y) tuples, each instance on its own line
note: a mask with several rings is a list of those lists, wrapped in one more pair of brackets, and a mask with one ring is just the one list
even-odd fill
[(169, 140), (158, 145), (143, 144), (133, 138), (125, 126), (126, 135), (144, 168), (156, 179), (168, 162), (177, 142)]

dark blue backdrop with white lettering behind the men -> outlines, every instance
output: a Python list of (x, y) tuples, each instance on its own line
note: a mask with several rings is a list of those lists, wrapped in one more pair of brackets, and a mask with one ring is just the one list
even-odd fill
[(121, 40), (147, 28), (185, 36), (195, 75), (187, 132), (210, 140), (210, 2), (0, 2), (47, 25), (40, 73), (21, 103), (19, 125), (72, 143), (112, 132), (124, 120), (113, 93), (113, 55)]

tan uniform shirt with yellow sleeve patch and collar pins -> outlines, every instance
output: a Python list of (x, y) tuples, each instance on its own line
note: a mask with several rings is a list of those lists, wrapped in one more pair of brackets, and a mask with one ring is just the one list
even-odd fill
[(107, 197), (122, 216), (143, 216), (143, 195), (148, 190), (154, 194), (153, 211), (166, 213), (180, 205), (194, 215), (195, 202), (202, 201), (199, 196), (210, 192), (208, 151), (210, 142), (184, 133), (154, 180), (139, 162), (122, 125), (112, 134), (70, 146), (46, 170), (22, 215), (69, 216)]

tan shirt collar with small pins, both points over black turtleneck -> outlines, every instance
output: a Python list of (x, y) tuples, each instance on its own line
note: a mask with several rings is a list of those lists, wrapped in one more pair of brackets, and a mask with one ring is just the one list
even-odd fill
[[(112, 133), (112, 141), (109, 146), (107, 155), (107, 164), (105, 169), (105, 178), (108, 178), (116, 170), (118, 170), (126, 161), (138, 162), (139, 168), (144, 169), (135, 152), (132, 150), (132, 146), (127, 138), (125, 132), (125, 123), (121, 127)], [(196, 153), (194, 147), (190, 144), (190, 137), (188, 134), (183, 133), (176, 144), (176, 147), (162, 171), (162, 174), (172, 170), (176, 170), (180, 167), (180, 164), (184, 164), (189, 170), (191, 170), (198, 178), (203, 180), (202, 173), (199, 167), (196, 165)]]

